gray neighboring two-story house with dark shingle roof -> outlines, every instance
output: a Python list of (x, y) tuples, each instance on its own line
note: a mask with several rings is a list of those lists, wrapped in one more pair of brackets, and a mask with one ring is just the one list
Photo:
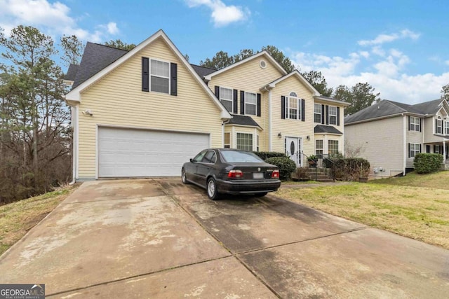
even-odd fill
[(416, 153), (440, 153), (449, 162), (449, 104), (443, 99), (408, 105), (382, 100), (344, 118), (344, 141), (361, 148), (376, 176), (413, 170)]

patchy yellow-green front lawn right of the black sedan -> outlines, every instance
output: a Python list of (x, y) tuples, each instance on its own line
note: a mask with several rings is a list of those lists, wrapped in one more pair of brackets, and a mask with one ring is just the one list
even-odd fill
[(449, 172), (408, 174), (370, 183), (285, 188), (274, 195), (449, 249), (448, 182)]

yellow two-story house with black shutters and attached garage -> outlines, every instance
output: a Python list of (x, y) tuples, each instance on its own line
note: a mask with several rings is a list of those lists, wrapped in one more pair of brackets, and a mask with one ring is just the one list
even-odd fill
[(304, 157), (343, 151), (343, 109), (267, 52), (215, 70), (160, 30), (130, 51), (87, 43), (71, 66), (74, 177), (178, 176), (203, 148)]

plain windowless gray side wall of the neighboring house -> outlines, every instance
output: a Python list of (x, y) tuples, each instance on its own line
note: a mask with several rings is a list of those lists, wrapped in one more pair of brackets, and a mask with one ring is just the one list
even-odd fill
[(346, 125), (344, 139), (347, 146), (362, 148), (360, 156), (370, 162), (371, 169), (385, 169), (385, 172), (378, 175), (393, 176), (403, 172), (403, 122), (403, 116), (396, 116)]

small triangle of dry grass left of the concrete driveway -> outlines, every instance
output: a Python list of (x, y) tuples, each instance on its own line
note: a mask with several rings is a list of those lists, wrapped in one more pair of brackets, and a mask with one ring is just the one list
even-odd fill
[(76, 186), (0, 206), (0, 255), (18, 242), (48, 213), (69, 196)]

